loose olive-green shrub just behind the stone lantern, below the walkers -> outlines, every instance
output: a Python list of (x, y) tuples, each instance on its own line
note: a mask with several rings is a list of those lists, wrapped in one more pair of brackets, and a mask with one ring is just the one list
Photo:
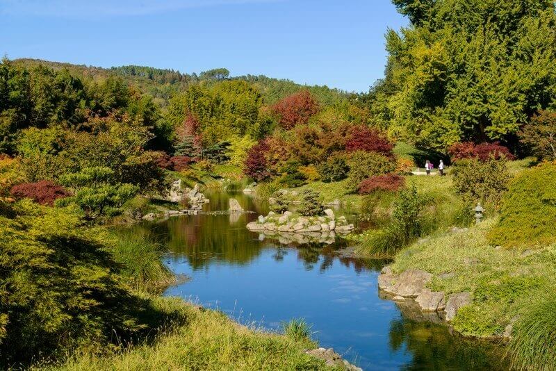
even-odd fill
[(454, 188), (466, 201), (498, 208), (511, 176), (503, 160), (461, 160), (453, 167)]

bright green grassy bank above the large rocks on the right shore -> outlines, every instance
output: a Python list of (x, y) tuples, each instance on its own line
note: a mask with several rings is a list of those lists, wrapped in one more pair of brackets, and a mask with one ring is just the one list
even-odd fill
[[(556, 245), (522, 255), (522, 249), (496, 249), (486, 233), (496, 223), (486, 220), (468, 231), (437, 233), (395, 256), (394, 272), (409, 269), (434, 274), (430, 288), (450, 294), (469, 291), (471, 306), (459, 311), (453, 325), (468, 336), (499, 336), (535, 298), (549, 290), (556, 275)], [(441, 279), (440, 274), (453, 277)]]

